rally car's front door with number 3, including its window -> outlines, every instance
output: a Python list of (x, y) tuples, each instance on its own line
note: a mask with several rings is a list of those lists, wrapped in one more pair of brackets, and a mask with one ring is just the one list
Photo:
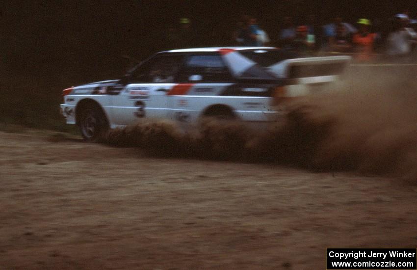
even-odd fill
[(182, 65), (182, 55), (157, 54), (131, 73), (112, 99), (112, 123), (129, 125), (142, 118), (166, 118), (167, 93)]

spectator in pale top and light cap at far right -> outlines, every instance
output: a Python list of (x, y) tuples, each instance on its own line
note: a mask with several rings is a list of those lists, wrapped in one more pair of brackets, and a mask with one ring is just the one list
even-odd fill
[(395, 56), (406, 56), (412, 51), (413, 44), (417, 39), (417, 33), (407, 27), (408, 16), (397, 14), (393, 21), (393, 28), (387, 38), (387, 54)]

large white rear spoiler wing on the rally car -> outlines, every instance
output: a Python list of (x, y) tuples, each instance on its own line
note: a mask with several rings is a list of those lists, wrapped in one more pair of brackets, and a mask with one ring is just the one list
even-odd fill
[(286, 84), (310, 84), (337, 81), (350, 64), (350, 56), (293, 58), (281, 61), (267, 70)]

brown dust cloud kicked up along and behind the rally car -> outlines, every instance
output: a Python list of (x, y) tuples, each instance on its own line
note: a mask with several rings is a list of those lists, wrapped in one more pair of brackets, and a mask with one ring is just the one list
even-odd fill
[(255, 131), (205, 121), (182, 131), (147, 121), (110, 131), (107, 143), (164, 157), (276, 162), (312, 170), (417, 175), (415, 70), (357, 67), (334, 89), (287, 103), (286, 122)]

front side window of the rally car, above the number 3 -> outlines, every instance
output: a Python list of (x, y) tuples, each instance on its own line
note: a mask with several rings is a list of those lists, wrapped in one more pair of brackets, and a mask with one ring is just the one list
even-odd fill
[(134, 82), (174, 82), (175, 77), (182, 66), (182, 55), (156, 56), (132, 73)]

